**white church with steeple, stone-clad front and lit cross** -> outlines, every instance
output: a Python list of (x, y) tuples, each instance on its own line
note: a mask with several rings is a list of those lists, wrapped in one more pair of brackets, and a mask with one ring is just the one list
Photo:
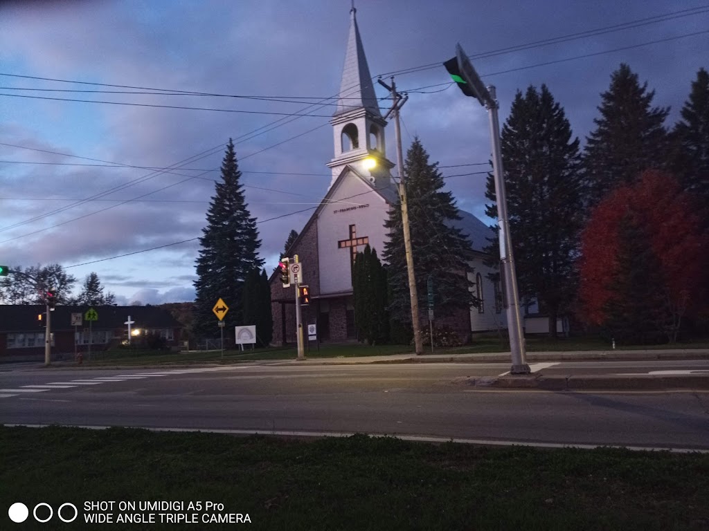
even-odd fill
[[(398, 191), (391, 178), (395, 166), (386, 156), (384, 129), (372, 76), (364, 57), (357, 28), (356, 10), (350, 11), (350, 35), (340, 84), (340, 99), (331, 123), (335, 142), (330, 189), (288, 249), (302, 264), (303, 280), (311, 302), (302, 307), (303, 335), (308, 324), (316, 324), (320, 341), (355, 338), (351, 268), (357, 252), (369, 244), (381, 257), (386, 241), (384, 221), (389, 209), (398, 204)], [(468, 278), (471, 290), (481, 299), (480, 307), (455, 315), (436, 325), (446, 324), (462, 341), (472, 333), (493, 331), (506, 326), (499, 283), (487, 277), (483, 248), (493, 237), (489, 227), (474, 215), (459, 210), (454, 226), (471, 241)], [(285, 236), (285, 235), (284, 235)], [(277, 271), (270, 280), (274, 320), (273, 343), (296, 341), (295, 288), (284, 288)]]

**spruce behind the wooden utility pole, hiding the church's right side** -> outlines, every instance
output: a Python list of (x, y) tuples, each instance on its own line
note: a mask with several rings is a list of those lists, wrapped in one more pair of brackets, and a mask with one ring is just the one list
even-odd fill
[[(427, 308), (426, 282), (429, 275), (435, 287), (434, 304), (438, 315), (446, 316), (457, 309), (469, 309), (475, 303), (467, 278), (471, 242), (460, 229), (454, 228), (454, 222), (460, 217), (452, 194), (442, 190), (445, 183), (437, 165), (429, 163), (428, 153), (420, 140), (415, 138), (406, 153), (404, 175), (420, 319), (425, 316)], [(384, 227), (389, 230), (383, 254), (384, 261), (389, 264), (389, 314), (393, 321), (411, 324), (411, 297), (400, 205), (391, 208)]]

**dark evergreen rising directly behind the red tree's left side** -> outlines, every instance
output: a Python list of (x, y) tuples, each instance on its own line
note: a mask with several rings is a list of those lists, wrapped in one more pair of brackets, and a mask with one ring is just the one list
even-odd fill
[(588, 206), (593, 207), (620, 185), (634, 183), (644, 169), (666, 166), (664, 120), (669, 108), (651, 107), (654, 91), (640, 85), (627, 64), (610, 76), (601, 94), (596, 130), (586, 139), (584, 167)]

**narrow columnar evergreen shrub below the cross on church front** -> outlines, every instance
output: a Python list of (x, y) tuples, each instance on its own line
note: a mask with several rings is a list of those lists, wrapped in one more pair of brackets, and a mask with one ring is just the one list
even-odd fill
[(354, 293), (354, 322), (357, 335), (369, 345), (385, 343), (389, 339), (389, 314), (386, 312), (386, 270), (376, 251), (364, 247), (357, 253), (352, 268)]

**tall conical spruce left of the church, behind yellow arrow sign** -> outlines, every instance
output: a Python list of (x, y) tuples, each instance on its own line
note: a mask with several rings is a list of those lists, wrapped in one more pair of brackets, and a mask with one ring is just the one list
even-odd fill
[(242, 288), (246, 275), (260, 268), (261, 241), (256, 219), (250, 216), (234, 152), (229, 139), (221, 166), (221, 181), (215, 185), (207, 211), (207, 226), (199, 239), (195, 300), (195, 331), (203, 338), (219, 336), (214, 304), (222, 298), (229, 307), (224, 321), (232, 328), (242, 324)]

